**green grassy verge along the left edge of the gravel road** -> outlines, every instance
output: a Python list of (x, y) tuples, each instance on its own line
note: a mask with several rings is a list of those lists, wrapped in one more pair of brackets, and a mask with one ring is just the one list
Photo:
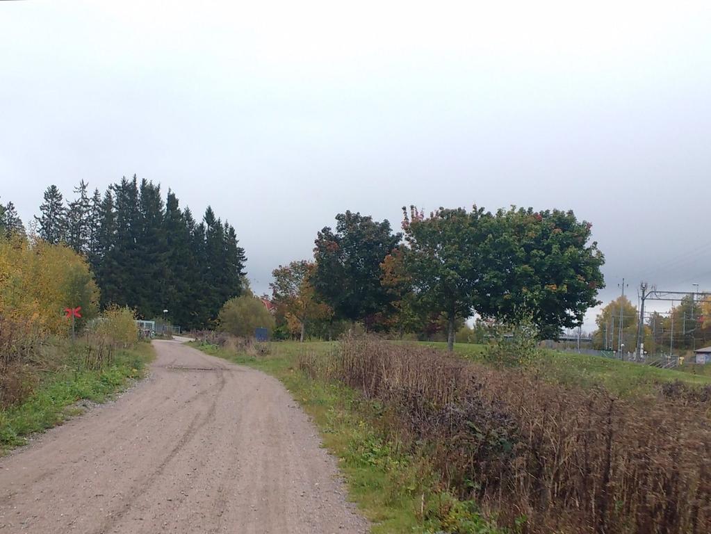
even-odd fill
[(38, 371), (38, 385), (20, 404), (0, 410), (0, 456), (25, 444), (29, 434), (42, 432), (67, 417), (82, 411), (80, 400), (105, 402), (122, 390), (129, 380), (141, 378), (145, 365), (154, 357), (149, 343), (119, 349), (112, 363), (100, 370), (86, 368), (80, 343), (72, 348), (67, 342), (50, 346), (54, 365)]

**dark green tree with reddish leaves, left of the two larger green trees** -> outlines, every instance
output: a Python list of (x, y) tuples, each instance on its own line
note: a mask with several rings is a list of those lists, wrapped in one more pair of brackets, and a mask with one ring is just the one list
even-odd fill
[(316, 269), (311, 277), (319, 298), (340, 319), (378, 326), (392, 296), (380, 284), (380, 264), (400, 242), (387, 220), (378, 222), (360, 213), (336, 215), (336, 231), (323, 228), (314, 248)]

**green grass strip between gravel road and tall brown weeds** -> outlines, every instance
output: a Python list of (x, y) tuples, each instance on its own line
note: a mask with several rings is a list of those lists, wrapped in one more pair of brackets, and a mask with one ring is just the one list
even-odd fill
[(497, 534), (473, 502), (445, 491), (426, 456), (403, 452), (382, 424), (383, 406), (350, 388), (314, 380), (299, 370), (301, 353), (324, 353), (332, 344), (272, 343), (268, 356), (249, 356), (199, 342), (192, 346), (233, 363), (248, 365), (284, 383), (321, 430), (325, 446), (338, 457), (349, 494), (373, 521), (373, 534)]

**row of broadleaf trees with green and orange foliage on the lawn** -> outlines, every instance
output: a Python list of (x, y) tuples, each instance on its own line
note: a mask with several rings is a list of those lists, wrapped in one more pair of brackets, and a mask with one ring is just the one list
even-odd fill
[(330, 336), (333, 321), (352, 321), (400, 336), (446, 331), (451, 351), (474, 315), (556, 339), (599, 303), (604, 255), (572, 210), (402, 211), (402, 233), (339, 213), (317, 233), (313, 260), (274, 269), (279, 335), (303, 340), (327, 322)]

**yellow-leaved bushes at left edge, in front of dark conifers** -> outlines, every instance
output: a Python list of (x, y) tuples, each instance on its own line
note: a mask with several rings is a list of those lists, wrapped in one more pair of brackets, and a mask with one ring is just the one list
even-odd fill
[(97, 313), (99, 290), (86, 260), (65, 245), (39, 239), (0, 239), (0, 314), (67, 334), (64, 309), (82, 306), (83, 324)]

